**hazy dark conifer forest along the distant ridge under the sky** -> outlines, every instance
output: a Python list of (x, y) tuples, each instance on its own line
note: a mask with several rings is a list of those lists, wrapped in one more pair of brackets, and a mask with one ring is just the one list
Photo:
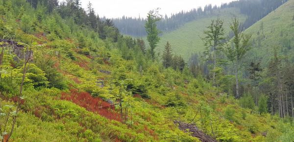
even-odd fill
[[(172, 14), (171, 17), (167, 15), (162, 16), (158, 21), (158, 28), (163, 32), (169, 32), (177, 29), (183, 24), (196, 20), (199, 18), (218, 15), (218, 10), (223, 8), (238, 8), (240, 12), (247, 16), (247, 19), (242, 24), (241, 28), (246, 29), (256, 21), (262, 19), (264, 16), (275, 10), (278, 6), (288, 0), (238, 0), (230, 3), (224, 3), (220, 7), (206, 5), (204, 8), (196, 8), (190, 11), (181, 11)], [(144, 28), (145, 18), (131, 18), (125, 17), (112, 19), (120, 32), (125, 35), (143, 37), (146, 36)]]

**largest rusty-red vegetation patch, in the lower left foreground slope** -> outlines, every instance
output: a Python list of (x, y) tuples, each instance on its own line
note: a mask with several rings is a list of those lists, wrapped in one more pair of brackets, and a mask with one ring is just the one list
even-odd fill
[(94, 98), (87, 92), (78, 92), (76, 89), (71, 89), (71, 94), (61, 93), (61, 99), (72, 101), (73, 103), (86, 108), (88, 111), (98, 113), (110, 120), (122, 122), (121, 116), (114, 110), (114, 105), (101, 98)]

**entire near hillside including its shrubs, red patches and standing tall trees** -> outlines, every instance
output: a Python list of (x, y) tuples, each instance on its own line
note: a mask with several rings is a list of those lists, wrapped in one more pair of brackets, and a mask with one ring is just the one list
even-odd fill
[[(283, 6), (288, 5), (291, 7), (293, 0)], [(244, 58), (245, 53), (253, 49), (247, 50), (251, 43), (249, 36), (236, 42), (239, 33), (243, 34), (237, 19), (231, 20), (235, 24), (230, 26), (217, 17), (204, 22), (208, 28), (202, 29), (206, 31), (201, 37), (206, 52), (199, 55), (203, 61), (195, 58), (197, 63), (192, 61), (189, 66), (171, 50), (172, 43), (167, 42), (163, 54), (158, 54), (157, 44), (161, 40), (155, 24), (159, 20), (156, 10), (150, 11), (147, 19), (148, 43), (145, 43), (123, 36), (112, 20), (100, 19), (90, 3), (83, 9), (80, 0), (0, 0), (0, 140), (291, 142), (294, 139), (290, 101), (279, 100), (275, 111), (268, 104), (269, 94), (286, 97), (274, 99), (292, 99), (293, 90), (289, 91), (287, 85), (293, 85), (293, 80), (281, 83), (282, 78), (276, 78), (273, 72), (268, 78), (261, 76), (264, 82), (261, 83), (257, 74), (271, 72), (263, 69), (261, 73), (256, 70), (259, 67), (251, 69), (254, 78), (243, 75), (244, 64), (248, 63), (245, 59), (249, 59)], [(214, 45), (207, 36), (209, 27), (220, 31)], [(233, 41), (224, 40), (230, 32)], [(239, 43), (242, 43), (240, 49), (246, 49), (242, 50), (242, 56), (236, 50)], [(279, 61), (275, 57), (272, 63)], [(236, 65), (242, 68), (236, 73), (240, 90), (235, 89), (235, 76), (231, 75), (235, 65), (230, 64), (235, 59), (244, 63)], [(267, 84), (272, 85), (269, 86), (272, 92), (266, 92), (269, 89), (263, 85)]]

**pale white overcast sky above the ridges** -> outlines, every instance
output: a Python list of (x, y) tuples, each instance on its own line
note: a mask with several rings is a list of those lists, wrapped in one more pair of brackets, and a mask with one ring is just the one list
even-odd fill
[(161, 8), (161, 15), (177, 13), (182, 10), (189, 11), (193, 8), (206, 4), (221, 5), (221, 3), (233, 0), (81, 0), (82, 7), (87, 8), (89, 1), (93, 4), (95, 12), (99, 17), (106, 18), (146, 17), (149, 10)]

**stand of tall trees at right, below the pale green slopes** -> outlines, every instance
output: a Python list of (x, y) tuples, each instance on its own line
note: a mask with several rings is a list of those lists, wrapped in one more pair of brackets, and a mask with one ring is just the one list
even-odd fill
[[(250, 49), (261, 45), (244, 34), (236, 20), (230, 25), (233, 38), (224, 41), (221, 23), (219, 19), (213, 20), (207, 26), (203, 37), (205, 52), (192, 54), (189, 67), (194, 76), (202, 74), (224, 92), (235, 94), (244, 107), (256, 105), (260, 113), (293, 117), (293, 55), (283, 52), (288, 47), (271, 47), (270, 61), (256, 60), (260, 57), (250, 53)], [(258, 31), (261, 36), (263, 24)]]

